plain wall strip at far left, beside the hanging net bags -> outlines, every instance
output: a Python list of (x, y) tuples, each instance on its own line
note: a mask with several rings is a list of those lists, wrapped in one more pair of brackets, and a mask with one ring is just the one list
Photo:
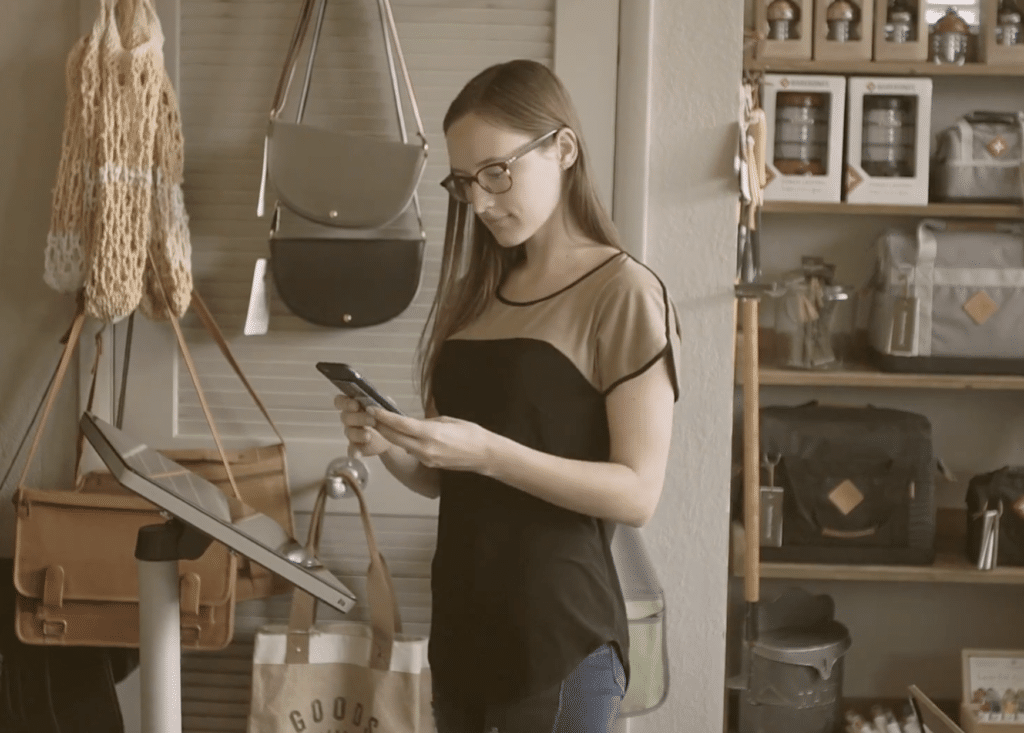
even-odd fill
[[(60, 157), (65, 58), (79, 35), (78, 2), (5, 2), (0, 23), (0, 98), (6, 100), (0, 115), (0, 479), (42, 399), (74, 313), (71, 296), (43, 284), (43, 248)], [(30, 477), (35, 485), (70, 477), (74, 451), (65, 448), (74, 444), (74, 373), (69, 382)], [(0, 486), (5, 557), (13, 550), (10, 494), (19, 467)]]

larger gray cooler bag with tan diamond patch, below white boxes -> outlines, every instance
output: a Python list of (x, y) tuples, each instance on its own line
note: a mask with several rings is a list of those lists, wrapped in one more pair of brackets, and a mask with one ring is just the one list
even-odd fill
[(1024, 227), (923, 219), (878, 241), (870, 343), (891, 372), (1024, 374)]

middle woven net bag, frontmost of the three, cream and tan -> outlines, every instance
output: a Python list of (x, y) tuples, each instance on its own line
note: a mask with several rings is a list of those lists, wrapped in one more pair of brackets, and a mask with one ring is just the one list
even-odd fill
[(151, 0), (106, 0), (104, 5), (99, 176), (85, 310), (113, 322), (135, 310), (142, 298), (164, 37)]

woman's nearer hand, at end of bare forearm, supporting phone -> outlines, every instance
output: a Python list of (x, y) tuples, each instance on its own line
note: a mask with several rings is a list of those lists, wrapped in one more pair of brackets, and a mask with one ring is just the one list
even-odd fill
[(377, 431), (428, 468), (482, 473), (493, 433), (456, 418), (417, 420), (372, 407)]

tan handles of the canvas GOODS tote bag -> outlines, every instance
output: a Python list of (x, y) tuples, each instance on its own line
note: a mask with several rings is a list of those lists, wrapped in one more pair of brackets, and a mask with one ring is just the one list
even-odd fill
[[(373, 630), (370, 666), (374, 670), (387, 671), (391, 664), (395, 636), (401, 634), (398, 599), (394, 593), (391, 571), (377, 545), (373, 521), (370, 518), (362, 489), (351, 483), (347, 485), (359, 501), (362, 529), (367, 536), (367, 546), (370, 549), (370, 567), (367, 570), (367, 602), (370, 607), (370, 624)], [(313, 506), (309, 522), (309, 534), (306, 541), (306, 552), (309, 557), (317, 556), (319, 552), (326, 505), (327, 488), (322, 486), (319, 493), (316, 494), (316, 503)], [(316, 599), (305, 591), (295, 589), (288, 621), (286, 663), (307, 663), (309, 661), (309, 635), (315, 621)]]

